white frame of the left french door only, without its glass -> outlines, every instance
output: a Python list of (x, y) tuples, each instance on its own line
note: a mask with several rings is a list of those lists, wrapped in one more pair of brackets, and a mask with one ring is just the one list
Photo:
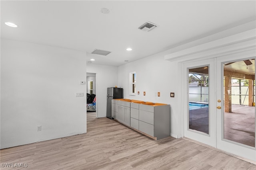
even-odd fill
[[(183, 64), (183, 74), (182, 74), (182, 84), (183, 87), (183, 137), (187, 137), (189, 139), (193, 139), (194, 141), (198, 141), (200, 143), (204, 143), (211, 147), (216, 147), (216, 113), (215, 113), (215, 60), (214, 59), (205, 59), (200, 61), (192, 61), (192, 62), (184, 62)], [(202, 133), (196, 130), (189, 129), (189, 108), (188, 108), (188, 69), (189, 68), (197, 68), (202, 66), (208, 66), (208, 75), (209, 75), (209, 134)], [(212, 102), (210, 102), (212, 101)]]

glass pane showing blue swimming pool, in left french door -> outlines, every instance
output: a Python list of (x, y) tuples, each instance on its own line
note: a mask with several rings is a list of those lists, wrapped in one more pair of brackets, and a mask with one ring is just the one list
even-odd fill
[(188, 70), (189, 129), (209, 134), (209, 67)]

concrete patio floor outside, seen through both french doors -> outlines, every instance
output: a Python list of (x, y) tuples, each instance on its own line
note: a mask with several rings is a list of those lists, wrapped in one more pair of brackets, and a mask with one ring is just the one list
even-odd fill
[[(209, 133), (208, 107), (189, 111), (190, 129)], [(224, 113), (224, 139), (255, 147), (255, 107), (232, 105)]]

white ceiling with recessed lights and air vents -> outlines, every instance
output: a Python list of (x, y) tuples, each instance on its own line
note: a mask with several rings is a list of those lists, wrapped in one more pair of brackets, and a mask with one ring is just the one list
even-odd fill
[[(256, 1), (3, 1), (1, 38), (87, 52), (93, 64), (119, 66), (256, 20)], [(102, 14), (108, 8), (109, 14)], [(159, 25), (150, 32), (144, 22)], [(12, 28), (4, 22), (16, 23)], [(126, 51), (126, 48), (132, 51)], [(107, 56), (94, 49), (112, 51)]]

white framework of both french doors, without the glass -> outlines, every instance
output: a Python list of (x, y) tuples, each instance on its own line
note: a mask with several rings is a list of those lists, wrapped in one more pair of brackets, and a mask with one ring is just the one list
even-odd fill
[[(215, 113), (213, 113), (215, 115), (215, 127), (216, 127), (216, 136), (215, 136), (215, 145), (212, 145), (212, 143), (205, 143), (203, 142), (202, 140), (198, 140), (196, 138), (190, 138), (188, 137), (189, 139), (192, 139), (194, 141), (197, 141), (199, 143), (203, 143), (205, 145), (208, 145), (208, 146), (211, 146), (211, 147), (214, 147), (216, 148), (217, 150), (222, 150), (223, 152), (227, 153), (227, 154), (230, 154), (232, 156), (235, 156), (235, 157), (238, 157), (238, 158), (241, 158), (243, 160), (246, 160), (248, 162), (252, 162), (252, 163), (256, 163), (256, 148), (252, 148), (252, 147), (248, 147), (246, 145), (237, 145), (236, 142), (230, 142), (230, 141), (225, 141), (223, 140), (223, 134), (222, 134), (222, 128), (223, 128), (223, 119), (222, 119), (222, 109), (224, 108), (223, 107), (223, 102), (221, 103), (221, 106), (222, 106), (222, 109), (216, 109), (216, 106), (219, 105), (219, 103), (217, 102), (218, 98), (220, 98), (219, 96), (221, 96), (221, 100), (223, 101), (223, 96), (222, 96), (222, 90), (223, 90), (223, 82), (222, 80), (220, 80), (219, 78), (222, 78), (223, 76), (223, 71), (222, 69), (220, 69), (220, 67), (218, 66), (218, 64), (220, 64), (220, 61), (221, 62), (229, 62), (229, 61), (241, 61), (243, 59), (248, 59), (248, 58), (254, 58), (256, 59), (256, 51), (244, 51), (242, 53), (235, 53), (235, 54), (231, 54), (231, 55), (225, 55), (225, 56), (221, 56), (221, 57), (215, 57), (215, 58), (212, 58), (212, 60), (214, 61), (214, 80), (215, 80), (215, 85), (214, 85), (214, 88), (215, 88), (215, 92), (216, 92), (216, 95), (214, 96), (215, 100), (213, 101), (213, 105), (215, 106)], [(241, 57), (242, 56), (242, 57)], [(228, 60), (229, 59), (229, 60)], [(204, 61), (210, 61), (210, 59), (205, 59)], [(182, 62), (182, 101), (183, 101), (183, 110), (182, 110), (182, 137), (187, 137), (186, 136), (186, 121), (187, 121), (187, 104), (188, 104), (188, 87), (187, 87), (187, 77), (188, 77), (188, 73), (187, 73), (187, 70), (188, 68), (193, 68), (193, 67), (197, 67), (195, 66), (196, 63), (198, 63), (198, 67), (199, 66), (202, 66), (202, 62), (204, 62), (202, 60), (196, 60), (196, 61), (185, 61), (185, 62)], [(192, 64), (191, 66), (188, 66), (189, 64)], [(194, 64), (194, 65), (193, 65)], [(220, 74), (220, 71), (221, 71), (221, 74)], [(218, 75), (221, 75), (221, 76), (218, 76)], [(210, 72), (209, 72), (209, 75), (210, 75)], [(221, 85), (220, 85), (221, 84)], [(209, 96), (210, 96), (210, 92), (209, 92)], [(210, 104), (210, 102), (209, 102)], [(210, 111), (210, 109), (209, 109)], [(210, 119), (210, 117), (209, 117)], [(218, 120), (221, 120), (221, 121), (218, 121)], [(220, 126), (221, 124), (221, 126)], [(209, 123), (210, 125), (210, 123)], [(255, 127), (256, 129), (256, 127)], [(210, 135), (210, 131), (209, 131), (209, 135)], [(195, 137), (198, 137), (198, 134), (195, 135)], [(199, 137), (200, 139), (200, 137)], [(225, 143), (225, 145), (223, 145), (223, 143)]]

